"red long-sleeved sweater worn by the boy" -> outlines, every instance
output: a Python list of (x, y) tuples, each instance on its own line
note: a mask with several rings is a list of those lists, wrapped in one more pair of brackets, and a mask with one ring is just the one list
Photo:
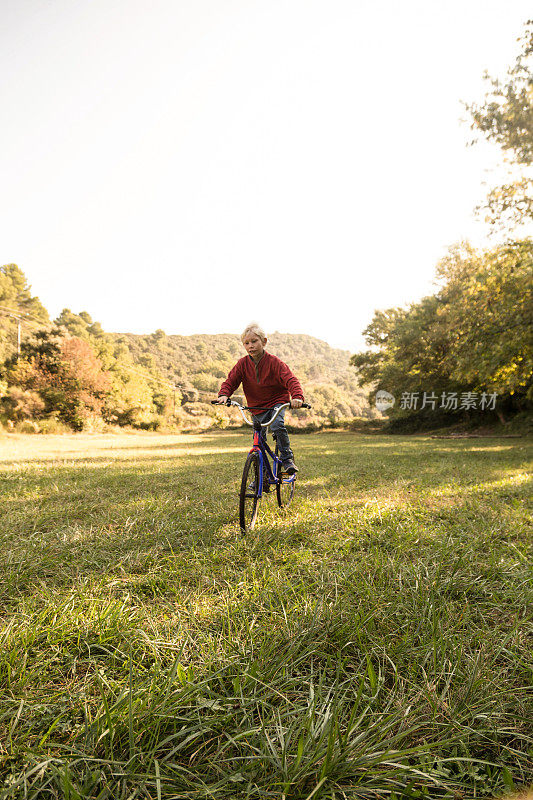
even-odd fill
[(243, 356), (230, 373), (222, 386), (221, 394), (231, 397), (242, 383), (246, 403), (251, 408), (272, 408), (276, 403), (288, 403), (290, 397), (304, 399), (302, 387), (288, 366), (277, 356), (265, 350), (258, 364), (251, 356)]

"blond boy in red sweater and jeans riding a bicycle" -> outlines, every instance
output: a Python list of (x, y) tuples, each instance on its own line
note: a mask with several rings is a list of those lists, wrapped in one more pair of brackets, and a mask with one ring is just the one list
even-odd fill
[[(272, 411), (259, 409), (277, 408), (288, 403), (290, 397), (291, 408), (301, 408), (304, 395), (300, 382), (281, 359), (266, 352), (267, 337), (264, 330), (256, 323), (251, 323), (244, 329), (241, 341), (248, 355), (240, 358), (230, 370), (220, 387), (218, 402), (225, 403), (242, 383), (247, 405), (252, 410), (257, 409), (252, 414), (254, 422), (267, 422), (272, 417)], [(285, 409), (280, 411), (270, 430), (278, 443), (283, 471), (294, 475), (298, 467), (294, 463), (284, 417)]]

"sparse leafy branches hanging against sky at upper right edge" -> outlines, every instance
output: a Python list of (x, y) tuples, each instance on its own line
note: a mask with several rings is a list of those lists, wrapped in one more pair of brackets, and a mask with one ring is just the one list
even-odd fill
[(522, 50), (502, 83), (485, 75), (490, 85), (481, 105), (467, 105), (472, 128), (498, 144), (508, 161), (525, 174), (494, 188), (487, 199), (492, 224), (520, 224), (533, 218), (533, 20), (526, 23)]

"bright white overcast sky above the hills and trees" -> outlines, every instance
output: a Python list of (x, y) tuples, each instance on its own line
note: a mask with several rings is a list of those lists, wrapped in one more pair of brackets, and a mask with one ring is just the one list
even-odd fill
[(461, 101), (522, 0), (0, 0), (0, 263), (109, 331), (364, 346), (433, 291), (499, 153)]

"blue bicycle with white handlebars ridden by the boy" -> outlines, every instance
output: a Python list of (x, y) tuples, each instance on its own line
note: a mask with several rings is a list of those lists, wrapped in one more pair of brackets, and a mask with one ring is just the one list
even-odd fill
[[(211, 400), (213, 404), (217, 400)], [(294, 487), (296, 475), (288, 475), (281, 471), (281, 459), (278, 456), (278, 444), (276, 442), (275, 451), (272, 452), (266, 441), (266, 429), (272, 425), (280, 411), (290, 408), (290, 403), (284, 403), (277, 409), (254, 408), (253, 411), (272, 411), (272, 418), (268, 422), (252, 422), (247, 419), (245, 411), (251, 411), (249, 406), (241, 406), (236, 400), (226, 400), (226, 406), (235, 406), (239, 409), (243, 420), (247, 425), (254, 429), (252, 449), (248, 453), (244, 469), (242, 471), (241, 489), (239, 492), (239, 523), (241, 530), (246, 533), (252, 530), (257, 520), (259, 511), (259, 501), (264, 492), (269, 492), (270, 488), (276, 488), (276, 499), (281, 509), (286, 509), (294, 497)], [(311, 408), (309, 403), (303, 403), (300, 408)], [(269, 461), (272, 459), (272, 465)]]

